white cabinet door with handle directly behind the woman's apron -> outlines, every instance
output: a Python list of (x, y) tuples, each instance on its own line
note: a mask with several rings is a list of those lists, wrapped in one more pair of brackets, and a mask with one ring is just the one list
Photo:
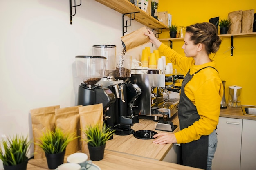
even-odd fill
[(240, 170), (242, 123), (243, 119), (220, 117), (212, 170)]

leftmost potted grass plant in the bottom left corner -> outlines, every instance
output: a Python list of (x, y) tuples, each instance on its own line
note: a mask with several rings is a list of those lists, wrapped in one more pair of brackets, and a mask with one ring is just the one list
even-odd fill
[[(2, 145), (2, 147), (1, 147)], [(4, 170), (26, 170), (28, 157), (27, 153), (31, 141), (27, 137), (17, 135), (3, 139), (0, 144), (0, 159), (3, 162)]]

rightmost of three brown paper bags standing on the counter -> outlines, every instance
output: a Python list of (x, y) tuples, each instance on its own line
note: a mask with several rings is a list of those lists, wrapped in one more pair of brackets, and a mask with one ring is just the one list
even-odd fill
[(78, 107), (81, 127), (81, 143), (82, 152), (88, 152), (87, 143), (83, 140), (86, 139), (86, 135), (83, 130), (86, 129), (87, 125), (94, 125), (96, 123), (103, 123), (103, 104), (88, 105)]

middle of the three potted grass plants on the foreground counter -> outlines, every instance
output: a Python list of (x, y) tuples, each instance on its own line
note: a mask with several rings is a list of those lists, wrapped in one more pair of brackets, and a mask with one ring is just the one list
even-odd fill
[(40, 136), (39, 145), (45, 152), (47, 159), (47, 165), (49, 169), (56, 169), (59, 165), (63, 164), (65, 151), (68, 143), (78, 138), (74, 134), (64, 133), (60, 128), (56, 128), (55, 131), (47, 130)]

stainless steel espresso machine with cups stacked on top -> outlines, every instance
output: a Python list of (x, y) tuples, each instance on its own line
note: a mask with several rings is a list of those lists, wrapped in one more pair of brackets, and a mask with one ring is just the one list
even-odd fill
[[(152, 72), (148, 72), (152, 73)], [(170, 98), (169, 91), (180, 92), (180, 82), (184, 76), (177, 74), (132, 74), (130, 81), (141, 88), (141, 95), (135, 101), (134, 114), (154, 116), (154, 121), (167, 115), (168, 118), (178, 111), (179, 98)]]

